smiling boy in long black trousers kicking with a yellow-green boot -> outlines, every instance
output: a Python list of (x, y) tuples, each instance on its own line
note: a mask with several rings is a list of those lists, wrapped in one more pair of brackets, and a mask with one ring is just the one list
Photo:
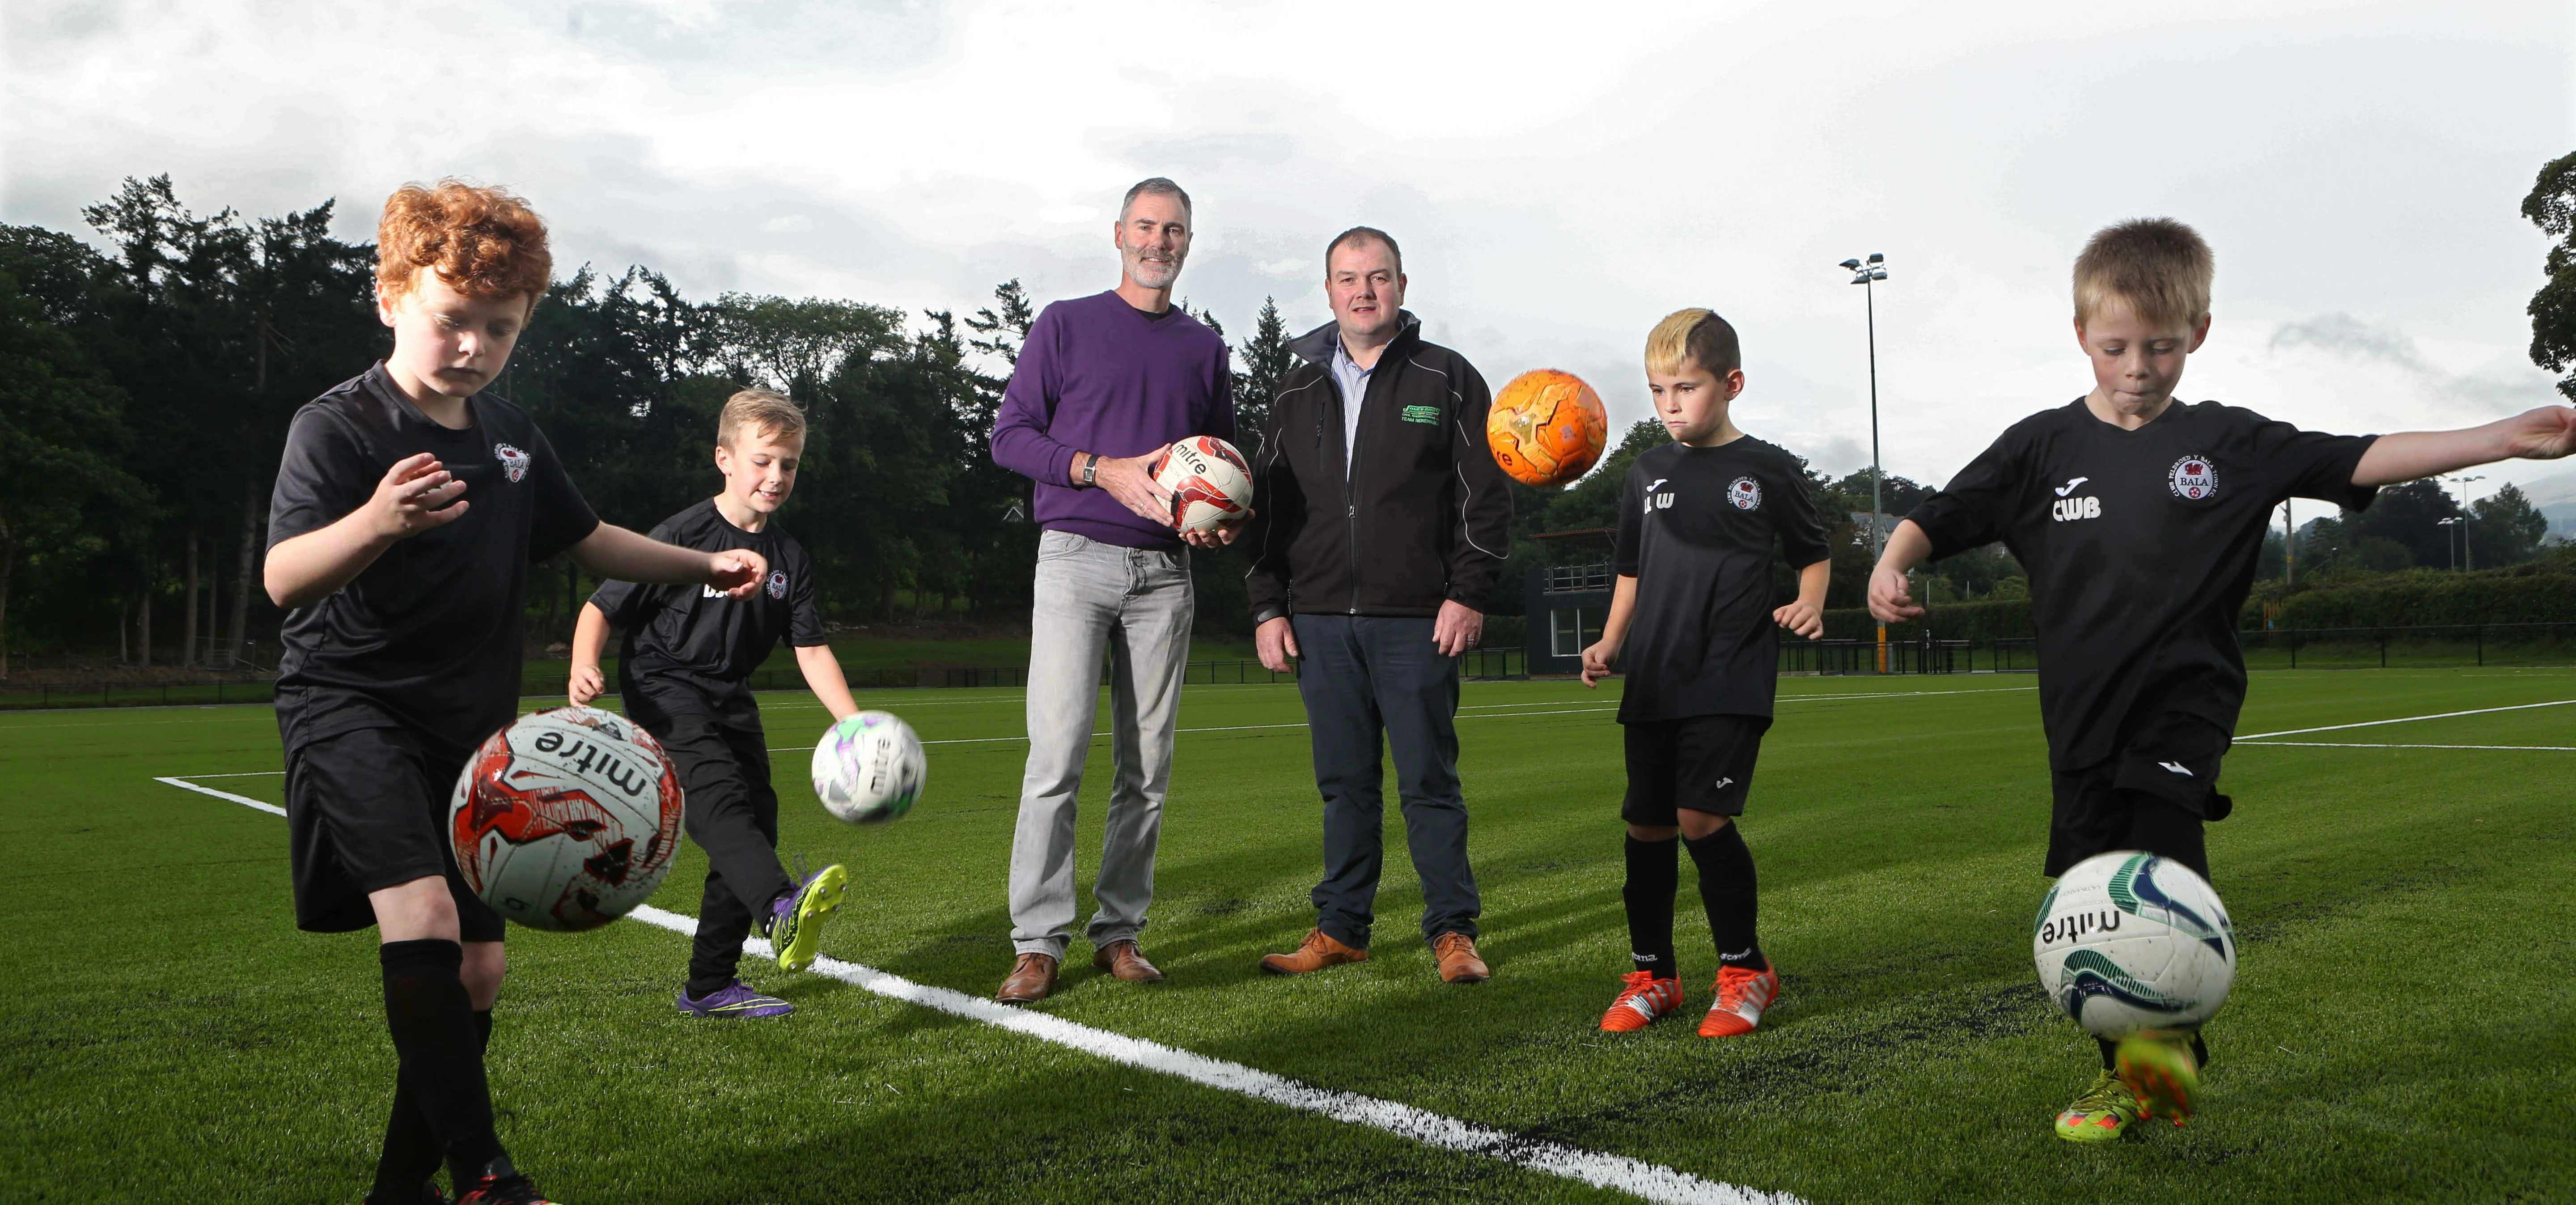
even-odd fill
[(786, 1017), (793, 1004), (752, 991), (734, 968), (752, 924), (770, 940), (778, 966), (804, 971), (822, 945), (824, 922), (840, 909), (850, 875), (840, 865), (804, 883), (778, 865), (778, 790), (770, 788), (770, 744), (747, 680), (786, 639), (806, 687), (842, 721), (858, 713), (850, 685), (824, 644), (814, 610), (814, 561), (773, 515), (796, 489), (804, 461), (804, 412), (768, 389), (744, 389), (716, 420), (716, 471), (724, 492), (652, 530), (683, 548), (755, 548), (770, 577), (750, 597), (693, 587), (605, 582), (572, 631), (569, 698), (600, 698), (600, 651), (608, 626), (626, 631), (618, 690), (626, 716), (662, 742), (680, 770), (688, 834), (706, 850), (706, 896), (688, 955), (680, 1012), (690, 1017)]

